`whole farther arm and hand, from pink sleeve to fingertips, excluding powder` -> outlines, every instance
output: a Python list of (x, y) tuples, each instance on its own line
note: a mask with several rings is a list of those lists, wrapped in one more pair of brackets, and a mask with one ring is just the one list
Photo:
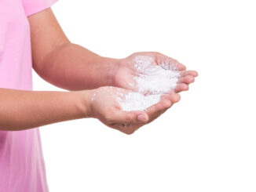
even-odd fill
[(68, 90), (95, 89), (110, 85), (135, 90), (130, 82), (136, 74), (133, 58), (137, 55), (151, 56), (155, 64), (168, 61), (174, 64), (183, 77), (176, 92), (188, 89), (194, 82), (196, 71), (185, 71), (185, 66), (160, 53), (135, 53), (116, 60), (98, 56), (82, 46), (68, 41), (51, 9), (29, 16), (33, 67), (47, 82)]

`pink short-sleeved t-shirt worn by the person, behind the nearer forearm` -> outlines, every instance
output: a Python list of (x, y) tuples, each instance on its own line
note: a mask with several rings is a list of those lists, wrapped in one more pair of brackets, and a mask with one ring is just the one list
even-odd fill
[[(27, 16), (53, 2), (56, 0), (0, 0), (0, 88), (32, 89)], [(46, 191), (39, 129), (0, 131), (0, 192)]]

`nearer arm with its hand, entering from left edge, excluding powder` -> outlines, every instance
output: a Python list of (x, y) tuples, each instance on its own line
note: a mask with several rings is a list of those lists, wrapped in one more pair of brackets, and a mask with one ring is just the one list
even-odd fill
[(149, 109), (149, 115), (143, 110), (123, 111), (113, 99), (116, 92), (129, 91), (115, 87), (72, 92), (0, 89), (0, 130), (19, 131), (60, 121), (97, 118), (108, 127), (131, 134), (153, 120), (159, 109), (172, 104), (163, 100)]

